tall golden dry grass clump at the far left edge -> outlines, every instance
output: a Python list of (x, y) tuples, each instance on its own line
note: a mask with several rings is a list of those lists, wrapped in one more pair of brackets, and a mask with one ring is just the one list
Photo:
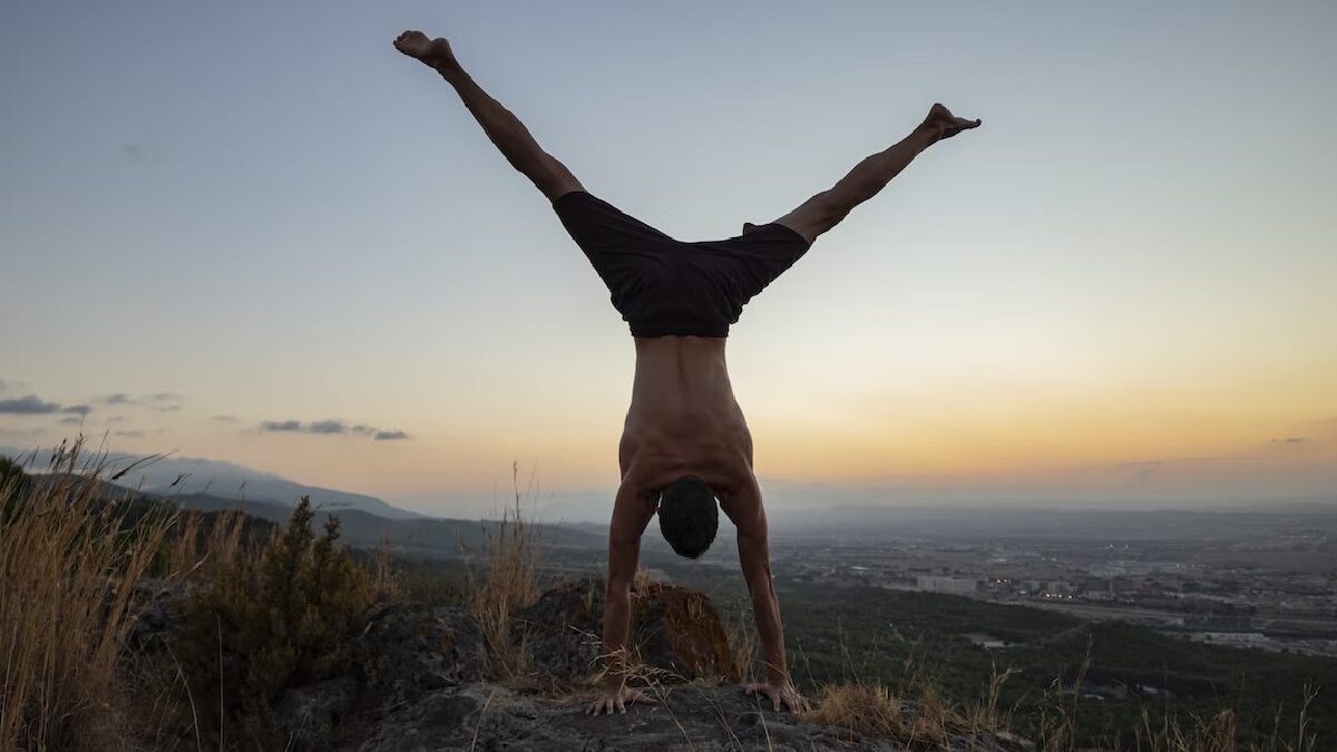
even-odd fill
[(104, 458), (82, 450), (82, 439), (62, 444), (23, 498), (15, 483), (0, 488), (0, 749), (106, 749), (122, 737), (131, 598), (175, 515), (122, 530), (124, 504), (99, 499)]

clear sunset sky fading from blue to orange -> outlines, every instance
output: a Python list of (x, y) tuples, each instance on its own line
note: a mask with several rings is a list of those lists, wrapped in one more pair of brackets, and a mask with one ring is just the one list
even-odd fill
[(984, 120), (733, 326), (782, 503), (1337, 496), (1326, 1), (5, 0), (0, 444), (606, 514), (626, 324), (405, 28), (682, 240)]

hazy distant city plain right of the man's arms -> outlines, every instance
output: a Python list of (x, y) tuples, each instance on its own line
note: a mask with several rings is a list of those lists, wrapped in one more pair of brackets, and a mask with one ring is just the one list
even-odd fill
[[(897, 525), (886, 512), (884, 530)], [(1066, 519), (1060, 519), (1066, 518)], [(777, 541), (777, 579), (872, 585), (1119, 620), (1190, 640), (1337, 656), (1337, 508), (939, 511), (913, 535)], [(993, 533), (985, 529), (999, 522)], [(1035, 522), (1035, 533), (1023, 530)], [(1083, 522), (1080, 527), (1060, 522)], [(1046, 523), (1072, 527), (1043, 531)], [(1197, 538), (1181, 535), (1191, 523)], [(957, 530), (952, 530), (956, 527)], [(977, 634), (985, 646), (1003, 646)]]

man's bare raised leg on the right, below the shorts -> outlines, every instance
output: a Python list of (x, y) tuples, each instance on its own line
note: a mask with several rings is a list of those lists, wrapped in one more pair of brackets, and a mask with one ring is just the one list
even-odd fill
[(809, 244), (834, 227), (852, 209), (877, 195), (901, 170), (929, 146), (979, 127), (980, 120), (957, 118), (941, 104), (933, 104), (924, 122), (910, 135), (885, 151), (873, 154), (854, 166), (832, 189), (809, 198), (777, 222), (804, 236)]

